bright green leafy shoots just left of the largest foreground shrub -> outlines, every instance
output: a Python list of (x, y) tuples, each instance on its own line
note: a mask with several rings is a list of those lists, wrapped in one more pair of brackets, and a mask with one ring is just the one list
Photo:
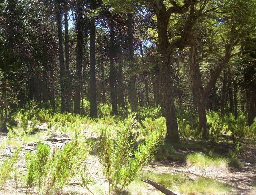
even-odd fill
[(36, 187), (38, 194), (58, 194), (72, 179), (86, 158), (89, 147), (81, 138), (75, 137), (62, 150), (55, 149), (51, 154), (50, 146), (38, 143), (36, 151), (27, 153), (27, 171), (24, 181), (27, 193)]

